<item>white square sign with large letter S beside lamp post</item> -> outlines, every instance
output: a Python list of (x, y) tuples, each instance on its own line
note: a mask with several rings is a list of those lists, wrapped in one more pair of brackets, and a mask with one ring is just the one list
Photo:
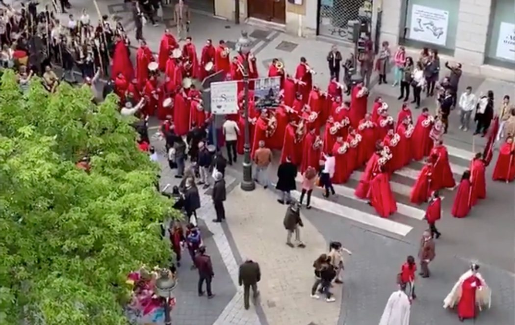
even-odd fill
[(221, 82), (211, 84), (211, 113), (216, 115), (238, 112), (238, 83)]

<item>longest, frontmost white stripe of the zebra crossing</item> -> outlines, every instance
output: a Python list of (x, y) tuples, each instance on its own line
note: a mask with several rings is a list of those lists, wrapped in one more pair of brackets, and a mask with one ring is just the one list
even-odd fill
[[(295, 199), (299, 199), (300, 192), (293, 191), (292, 196)], [(379, 216), (374, 216), (360, 210), (356, 210), (341, 204), (337, 204), (328, 200), (323, 200), (317, 197), (311, 197), (311, 205), (319, 210), (338, 215), (359, 223), (363, 223), (369, 226), (373, 226), (377, 229), (382, 229), (390, 233), (394, 233), (401, 236), (406, 236), (413, 227), (405, 225), (400, 222), (395, 222)]]

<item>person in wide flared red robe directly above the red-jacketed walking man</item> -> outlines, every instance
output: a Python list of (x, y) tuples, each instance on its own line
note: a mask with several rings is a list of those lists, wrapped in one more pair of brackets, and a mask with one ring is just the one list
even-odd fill
[(431, 175), (431, 190), (436, 191), (456, 186), (454, 175), (449, 165), (449, 154), (447, 148), (443, 145), (443, 141), (439, 140), (435, 143), (430, 155), (436, 157), (433, 164), (433, 174)]

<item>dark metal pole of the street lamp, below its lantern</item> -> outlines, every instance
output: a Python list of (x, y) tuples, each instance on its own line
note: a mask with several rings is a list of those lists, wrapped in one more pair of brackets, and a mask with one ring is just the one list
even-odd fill
[(250, 160), (250, 124), (249, 124), (249, 60), (248, 53), (241, 53), (243, 61), (243, 87), (245, 93), (244, 115), (245, 115), (245, 144), (243, 146), (243, 182), (241, 188), (244, 191), (252, 191), (255, 188), (255, 183), (252, 178), (252, 161)]

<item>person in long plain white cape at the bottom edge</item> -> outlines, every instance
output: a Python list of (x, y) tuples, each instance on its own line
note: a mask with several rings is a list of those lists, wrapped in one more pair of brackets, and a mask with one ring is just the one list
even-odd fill
[(411, 303), (405, 290), (406, 285), (400, 284), (399, 290), (390, 295), (379, 325), (409, 325)]

